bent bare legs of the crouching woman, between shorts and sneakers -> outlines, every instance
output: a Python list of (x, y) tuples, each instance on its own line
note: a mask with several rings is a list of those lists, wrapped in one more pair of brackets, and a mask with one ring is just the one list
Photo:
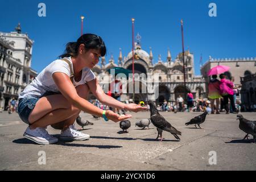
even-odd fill
[[(79, 85), (76, 90), (80, 97), (87, 98), (89, 93), (87, 85)], [(62, 94), (56, 94), (40, 98), (28, 117), (28, 121), (32, 124), (31, 129), (64, 121), (64, 130), (69, 125), (73, 125), (79, 113), (80, 110), (69, 104)]]

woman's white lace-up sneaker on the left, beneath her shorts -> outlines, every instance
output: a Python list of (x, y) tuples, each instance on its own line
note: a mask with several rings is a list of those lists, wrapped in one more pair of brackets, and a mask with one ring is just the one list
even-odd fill
[(58, 139), (52, 135), (49, 135), (44, 127), (37, 127), (34, 130), (27, 127), (23, 136), (38, 144), (51, 144), (58, 142)]

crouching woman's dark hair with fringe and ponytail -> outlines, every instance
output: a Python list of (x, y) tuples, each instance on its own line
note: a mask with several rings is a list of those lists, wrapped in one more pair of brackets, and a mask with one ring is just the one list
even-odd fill
[(80, 36), (76, 42), (67, 43), (65, 52), (59, 57), (76, 57), (79, 53), (80, 44), (84, 44), (85, 50), (97, 49), (100, 50), (101, 56), (105, 56), (106, 54), (106, 47), (100, 36), (95, 34), (84, 34)]

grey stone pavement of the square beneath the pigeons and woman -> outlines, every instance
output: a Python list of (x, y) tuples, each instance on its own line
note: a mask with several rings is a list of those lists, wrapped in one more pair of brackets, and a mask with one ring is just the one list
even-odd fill
[[(177, 130), (181, 141), (163, 132), (164, 140), (155, 141), (156, 128), (141, 130), (135, 122), (150, 117), (149, 111), (132, 113), (129, 133), (122, 134), (119, 123), (95, 120), (82, 113), (94, 125), (85, 126), (82, 132), (90, 135), (81, 142), (58, 142), (42, 146), (23, 138), (27, 125), (18, 114), (0, 113), (0, 170), (255, 170), (256, 143), (242, 140), (245, 133), (238, 129), (236, 114), (207, 115), (203, 129), (185, 126), (185, 122), (200, 113), (162, 112)], [(241, 113), (256, 120), (256, 113)], [(77, 126), (79, 127), (79, 126)], [(49, 134), (57, 137), (60, 130), (52, 127)], [(250, 135), (250, 139), (251, 139)], [(46, 154), (46, 164), (42, 153)], [(215, 155), (216, 164), (209, 158)], [(210, 152), (210, 154), (209, 154)]]

